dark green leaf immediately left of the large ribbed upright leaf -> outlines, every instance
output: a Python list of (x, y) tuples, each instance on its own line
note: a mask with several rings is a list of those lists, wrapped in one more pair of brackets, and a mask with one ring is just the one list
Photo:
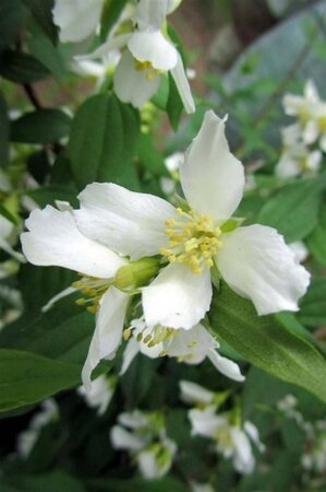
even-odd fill
[(70, 117), (60, 109), (36, 109), (12, 121), (11, 140), (23, 143), (53, 143), (69, 134)]

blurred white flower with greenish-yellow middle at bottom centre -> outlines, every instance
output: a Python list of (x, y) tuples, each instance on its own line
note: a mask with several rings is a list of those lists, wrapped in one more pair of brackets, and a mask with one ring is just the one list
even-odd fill
[(110, 433), (112, 446), (129, 450), (144, 478), (165, 476), (172, 465), (177, 445), (166, 435), (162, 415), (134, 410), (121, 413), (118, 422), (120, 425), (114, 425)]

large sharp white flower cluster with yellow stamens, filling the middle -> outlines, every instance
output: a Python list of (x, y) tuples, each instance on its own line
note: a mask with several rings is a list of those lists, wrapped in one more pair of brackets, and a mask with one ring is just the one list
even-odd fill
[[(206, 356), (226, 375), (242, 380), (239, 367), (221, 358), (207, 331), (213, 284), (222, 278), (250, 298), (259, 315), (297, 311), (310, 280), (282, 236), (263, 225), (239, 226), (231, 218), (244, 188), (242, 164), (229, 151), (225, 121), (213, 112), (180, 166), (186, 202), (174, 208), (114, 184), (88, 185), (81, 208), (59, 204), (34, 210), (22, 234), (34, 265), (81, 272), (73, 288), (96, 313), (96, 328), (83, 368), (90, 374), (112, 359), (123, 337), (124, 367), (138, 351), (200, 363)], [(125, 327), (133, 298), (141, 318)], [(125, 328), (125, 329), (124, 329)]]

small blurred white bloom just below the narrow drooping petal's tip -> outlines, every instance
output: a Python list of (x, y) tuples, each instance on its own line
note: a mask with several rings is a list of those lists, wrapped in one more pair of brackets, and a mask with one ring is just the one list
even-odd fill
[(114, 388), (116, 378), (101, 375), (92, 382), (90, 391), (81, 386), (77, 393), (89, 407), (97, 408), (98, 415), (102, 415), (112, 399)]

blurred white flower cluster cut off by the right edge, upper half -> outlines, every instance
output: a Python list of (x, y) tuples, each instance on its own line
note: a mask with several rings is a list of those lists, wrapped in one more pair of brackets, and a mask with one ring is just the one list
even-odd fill
[(326, 152), (326, 102), (321, 99), (312, 80), (303, 96), (287, 94), (283, 98), (286, 115), (297, 121), (282, 129), (283, 152), (276, 174), (283, 178), (314, 175), (318, 172), (323, 152)]

